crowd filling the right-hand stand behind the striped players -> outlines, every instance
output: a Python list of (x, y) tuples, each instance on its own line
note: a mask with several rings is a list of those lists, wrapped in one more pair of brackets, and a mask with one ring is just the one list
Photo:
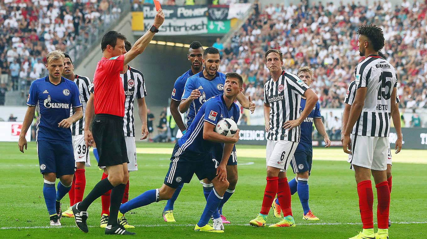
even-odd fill
[[(427, 24), (425, 2), (389, 1), (358, 5), (302, 0), (297, 6), (266, 5), (259, 1), (254, 13), (231, 42), (214, 46), (222, 51), (219, 71), (243, 75), (246, 94), (263, 105), (263, 83), (269, 79), (263, 53), (269, 48), (284, 55), (284, 70), (296, 73), (301, 66), (314, 70), (311, 87), (322, 108), (343, 107), (342, 101), (359, 56), (356, 30), (365, 23), (382, 27), (383, 53), (395, 66), (401, 108), (427, 108)], [(222, 48), (222, 49), (221, 49)]]

